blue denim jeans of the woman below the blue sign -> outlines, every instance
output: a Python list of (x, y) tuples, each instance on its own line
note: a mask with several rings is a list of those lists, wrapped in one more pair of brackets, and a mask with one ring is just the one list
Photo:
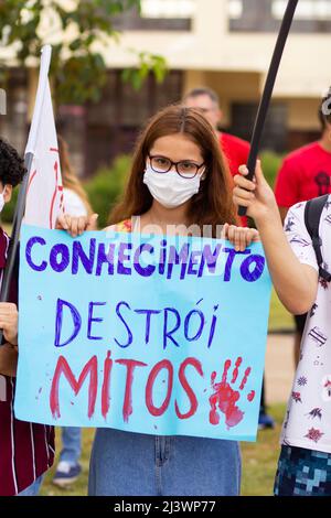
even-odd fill
[(93, 496), (235, 496), (238, 443), (98, 429), (89, 466)]

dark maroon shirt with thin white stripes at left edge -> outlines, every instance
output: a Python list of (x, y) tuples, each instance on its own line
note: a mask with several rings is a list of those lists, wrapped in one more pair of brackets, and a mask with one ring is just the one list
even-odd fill
[[(0, 283), (9, 238), (0, 227)], [(11, 285), (10, 302), (17, 303), (17, 282)], [(52, 466), (54, 429), (14, 418), (15, 378), (0, 375), (0, 496), (13, 496), (29, 487)]]

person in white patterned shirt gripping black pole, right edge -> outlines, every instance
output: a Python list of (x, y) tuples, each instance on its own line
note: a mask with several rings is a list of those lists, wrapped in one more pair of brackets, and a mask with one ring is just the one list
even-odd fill
[[(306, 203), (288, 212), (285, 231), (260, 165), (256, 181), (235, 176), (234, 202), (255, 219), (279, 299), (289, 312), (308, 312), (300, 359), (281, 433), (275, 495), (331, 496), (331, 282), (320, 278), (305, 224)], [(331, 265), (331, 196), (320, 218), (324, 268)], [(329, 266), (328, 266), (329, 265)]]

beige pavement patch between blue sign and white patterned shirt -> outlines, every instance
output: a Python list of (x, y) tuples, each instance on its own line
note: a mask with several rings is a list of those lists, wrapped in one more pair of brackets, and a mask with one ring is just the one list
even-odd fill
[(292, 335), (269, 335), (265, 376), (267, 404), (288, 400), (293, 374)]

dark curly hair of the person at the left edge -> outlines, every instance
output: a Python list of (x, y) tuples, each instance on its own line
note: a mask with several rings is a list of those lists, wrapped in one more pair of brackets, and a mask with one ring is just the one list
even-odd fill
[(26, 172), (24, 160), (17, 150), (0, 138), (0, 182), (15, 187)]

